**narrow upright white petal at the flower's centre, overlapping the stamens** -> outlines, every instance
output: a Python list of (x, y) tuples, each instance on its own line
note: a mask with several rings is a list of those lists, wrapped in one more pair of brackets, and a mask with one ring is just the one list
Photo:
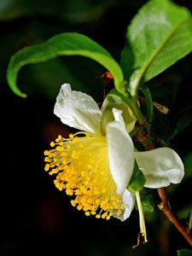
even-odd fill
[(110, 172), (121, 195), (129, 183), (134, 166), (134, 146), (125, 130), (122, 111), (113, 108), (115, 120), (107, 125), (108, 159)]

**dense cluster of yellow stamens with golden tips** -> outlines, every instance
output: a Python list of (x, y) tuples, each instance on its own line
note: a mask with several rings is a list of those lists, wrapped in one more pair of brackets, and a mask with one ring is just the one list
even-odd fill
[(56, 174), (58, 189), (75, 196), (73, 207), (96, 218), (109, 219), (122, 213), (122, 196), (117, 195), (109, 171), (106, 137), (78, 132), (68, 139), (59, 136), (50, 146), (53, 149), (44, 151), (44, 169), (50, 175)]

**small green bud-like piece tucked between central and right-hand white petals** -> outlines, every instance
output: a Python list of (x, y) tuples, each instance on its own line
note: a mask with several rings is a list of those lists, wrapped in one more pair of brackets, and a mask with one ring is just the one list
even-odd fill
[(128, 184), (127, 189), (131, 193), (135, 193), (143, 189), (144, 183), (146, 183), (146, 178), (144, 177), (143, 172), (139, 170), (137, 163), (135, 163), (131, 180), (130, 183)]

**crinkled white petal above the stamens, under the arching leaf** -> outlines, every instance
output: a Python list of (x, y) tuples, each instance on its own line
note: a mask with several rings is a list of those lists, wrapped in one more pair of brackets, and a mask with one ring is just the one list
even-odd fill
[(102, 112), (91, 96), (62, 84), (56, 97), (54, 113), (61, 122), (81, 131), (100, 133)]

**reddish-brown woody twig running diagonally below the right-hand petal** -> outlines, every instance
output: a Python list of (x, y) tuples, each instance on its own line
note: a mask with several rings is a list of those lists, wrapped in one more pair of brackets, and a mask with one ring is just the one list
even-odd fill
[(157, 189), (158, 194), (160, 195), (161, 202), (158, 205), (160, 211), (164, 212), (166, 218), (172, 222), (172, 224), (177, 228), (177, 230), (183, 235), (186, 241), (189, 242), (189, 245), (192, 246), (192, 236), (190, 236), (187, 228), (181, 224), (179, 218), (172, 212), (172, 208), (170, 207), (169, 201), (166, 196), (166, 189), (160, 188)]

